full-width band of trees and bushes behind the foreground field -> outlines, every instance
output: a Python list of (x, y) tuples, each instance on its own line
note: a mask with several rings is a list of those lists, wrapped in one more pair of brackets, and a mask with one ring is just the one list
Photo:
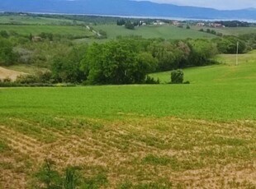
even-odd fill
[(31, 36), (0, 31), (0, 65), (15, 62), (50, 69), (46, 75), (19, 78), (22, 84), (84, 83), (90, 85), (154, 83), (147, 75), (154, 71), (204, 66), (216, 53), (239, 53), (256, 48), (256, 35), (223, 36), (216, 39), (142, 39), (126, 37), (104, 44), (78, 45), (70, 40), (51, 41), (42, 33), (40, 42)]

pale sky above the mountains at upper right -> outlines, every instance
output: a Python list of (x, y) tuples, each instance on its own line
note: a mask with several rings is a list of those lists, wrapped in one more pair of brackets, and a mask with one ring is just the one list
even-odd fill
[[(140, 0), (138, 0), (140, 1)], [(172, 3), (195, 7), (211, 7), (220, 10), (234, 10), (254, 7), (256, 0), (149, 0), (150, 2)]]

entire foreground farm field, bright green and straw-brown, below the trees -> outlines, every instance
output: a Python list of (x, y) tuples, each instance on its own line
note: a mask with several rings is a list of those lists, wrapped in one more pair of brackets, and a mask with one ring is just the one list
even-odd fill
[(254, 57), (185, 69), (190, 85), (0, 89), (0, 187), (49, 158), (84, 188), (255, 188)]

